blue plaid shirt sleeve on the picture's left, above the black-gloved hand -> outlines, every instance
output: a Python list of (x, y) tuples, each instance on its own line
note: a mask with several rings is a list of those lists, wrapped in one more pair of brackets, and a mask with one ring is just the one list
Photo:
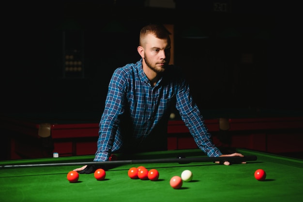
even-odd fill
[(97, 141), (97, 151), (94, 161), (108, 160), (113, 149), (114, 142), (119, 147), (121, 145), (118, 126), (120, 115), (123, 114), (125, 78), (116, 69), (108, 86), (105, 109), (99, 123), (99, 138)]

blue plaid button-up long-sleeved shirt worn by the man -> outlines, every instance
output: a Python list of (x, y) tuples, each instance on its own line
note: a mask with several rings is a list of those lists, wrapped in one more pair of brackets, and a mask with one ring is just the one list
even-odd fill
[[(140, 144), (142, 140), (148, 140), (153, 130), (165, 136), (172, 105), (179, 111), (197, 146), (209, 157), (222, 155), (212, 143), (203, 116), (190, 95), (189, 86), (180, 69), (170, 65), (152, 87), (143, 72), (141, 59), (136, 64), (116, 69), (111, 77), (105, 110), (99, 124), (94, 161), (107, 160), (111, 153), (121, 150), (123, 144)], [(164, 133), (159, 133), (158, 125), (161, 125)], [(131, 130), (123, 134), (126, 128)]]

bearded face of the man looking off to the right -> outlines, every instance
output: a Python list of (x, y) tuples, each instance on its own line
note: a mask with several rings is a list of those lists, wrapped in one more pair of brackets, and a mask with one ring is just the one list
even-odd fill
[(170, 59), (170, 44), (167, 39), (158, 39), (148, 34), (145, 42), (143, 59), (146, 65), (154, 72), (164, 72)]

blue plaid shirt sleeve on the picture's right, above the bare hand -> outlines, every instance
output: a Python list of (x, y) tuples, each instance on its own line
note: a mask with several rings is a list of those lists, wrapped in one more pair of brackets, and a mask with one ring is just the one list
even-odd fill
[(221, 151), (212, 143), (211, 134), (204, 123), (197, 104), (190, 94), (189, 85), (182, 80), (176, 96), (176, 109), (194, 137), (197, 146), (209, 157), (219, 157)]

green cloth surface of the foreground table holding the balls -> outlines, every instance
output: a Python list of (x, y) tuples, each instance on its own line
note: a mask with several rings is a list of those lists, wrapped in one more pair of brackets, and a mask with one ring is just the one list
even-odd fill
[[(37, 166), (0, 169), (1, 202), (298, 202), (303, 199), (303, 160), (286, 158), (247, 149), (238, 149), (245, 156), (256, 155), (247, 164), (219, 165), (213, 162), (124, 164), (106, 170), (106, 178), (97, 181), (94, 175), (80, 174), (77, 183), (66, 175), (76, 165)], [(139, 153), (136, 159), (205, 157), (198, 149)], [(32, 163), (87, 162), (93, 156), (70, 156), (45, 159), (1, 161), (0, 165)], [(119, 154), (118, 154), (119, 158)], [(131, 167), (155, 168), (157, 181), (130, 179)], [(257, 169), (266, 172), (266, 179), (254, 177)], [(169, 185), (170, 178), (190, 170), (193, 179), (182, 188)]]

